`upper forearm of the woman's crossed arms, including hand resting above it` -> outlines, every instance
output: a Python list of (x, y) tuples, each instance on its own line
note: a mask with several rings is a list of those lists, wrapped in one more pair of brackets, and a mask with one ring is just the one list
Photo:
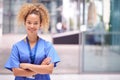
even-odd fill
[(40, 65), (21, 63), (20, 67), (22, 69), (28, 69), (38, 74), (51, 74), (54, 68), (54, 64), (50, 62), (51, 58), (45, 58)]

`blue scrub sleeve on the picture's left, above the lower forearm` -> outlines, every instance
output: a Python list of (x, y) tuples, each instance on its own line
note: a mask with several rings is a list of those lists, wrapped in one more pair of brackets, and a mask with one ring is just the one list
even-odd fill
[(19, 68), (19, 52), (16, 45), (13, 45), (10, 57), (8, 58), (5, 68), (12, 71), (12, 68)]

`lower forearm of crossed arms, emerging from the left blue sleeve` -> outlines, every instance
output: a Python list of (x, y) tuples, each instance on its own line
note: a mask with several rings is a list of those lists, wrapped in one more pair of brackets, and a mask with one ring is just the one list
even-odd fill
[(25, 70), (25, 69), (21, 69), (21, 68), (13, 68), (13, 74), (15, 76), (23, 76), (23, 77), (29, 77), (32, 75), (35, 75), (36, 73), (30, 70)]

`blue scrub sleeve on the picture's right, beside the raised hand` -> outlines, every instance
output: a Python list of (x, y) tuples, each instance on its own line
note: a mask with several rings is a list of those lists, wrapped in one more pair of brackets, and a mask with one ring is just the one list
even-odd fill
[(46, 47), (45, 51), (46, 51), (47, 57), (51, 58), (51, 63), (54, 63), (54, 67), (56, 67), (56, 64), (58, 62), (60, 62), (60, 58), (59, 58), (55, 48), (53, 47), (53, 45), (50, 42), (47, 43), (47, 47)]

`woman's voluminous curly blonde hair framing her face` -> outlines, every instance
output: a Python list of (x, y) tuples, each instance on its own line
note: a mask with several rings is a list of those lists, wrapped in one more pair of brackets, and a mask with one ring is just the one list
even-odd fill
[(25, 3), (20, 8), (17, 15), (18, 24), (24, 24), (29, 14), (36, 14), (40, 16), (40, 23), (44, 30), (48, 30), (49, 27), (49, 13), (47, 8), (42, 3)]

